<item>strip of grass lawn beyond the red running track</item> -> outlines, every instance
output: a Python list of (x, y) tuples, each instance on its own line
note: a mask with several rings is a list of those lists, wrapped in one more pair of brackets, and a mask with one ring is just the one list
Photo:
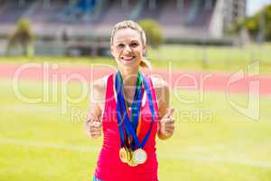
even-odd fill
[[(259, 61), (262, 73), (271, 72), (271, 43), (248, 44), (238, 46), (195, 46), (162, 45), (158, 50), (148, 49), (146, 58), (154, 68), (186, 69), (192, 71), (238, 71), (250, 62)], [(0, 57), (1, 62), (60, 62), (79, 64), (109, 63), (115, 64), (113, 58), (79, 58), (79, 57)], [(205, 62), (203, 64), (202, 62)]]

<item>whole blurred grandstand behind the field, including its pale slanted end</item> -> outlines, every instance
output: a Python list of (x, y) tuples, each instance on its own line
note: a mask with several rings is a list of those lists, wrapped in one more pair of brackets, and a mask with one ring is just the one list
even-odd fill
[(233, 44), (238, 39), (225, 32), (246, 16), (246, 0), (2, 0), (0, 6), (1, 47), (25, 18), (37, 36), (37, 54), (97, 54), (108, 48), (113, 24), (126, 19), (154, 19), (165, 43)]

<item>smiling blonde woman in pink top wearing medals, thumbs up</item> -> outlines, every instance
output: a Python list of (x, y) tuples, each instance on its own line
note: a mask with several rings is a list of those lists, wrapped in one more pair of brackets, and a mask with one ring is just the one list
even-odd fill
[(90, 138), (100, 137), (101, 129), (104, 135), (93, 180), (157, 181), (155, 136), (167, 139), (174, 130), (169, 88), (140, 71), (150, 69), (150, 62), (143, 57), (146, 38), (138, 24), (116, 24), (110, 43), (118, 71), (93, 83), (85, 124)]

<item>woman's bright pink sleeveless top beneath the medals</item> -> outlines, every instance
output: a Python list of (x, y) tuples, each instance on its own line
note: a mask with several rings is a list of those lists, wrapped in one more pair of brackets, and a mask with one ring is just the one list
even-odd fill
[[(103, 145), (98, 156), (95, 176), (102, 181), (157, 181), (158, 162), (156, 157), (155, 137), (157, 132), (157, 100), (150, 77), (146, 77), (154, 102), (154, 124), (144, 150), (147, 160), (144, 164), (130, 167), (119, 158), (120, 136), (117, 127), (117, 98), (115, 97), (115, 74), (107, 78), (106, 102), (103, 112)], [(145, 90), (141, 105), (141, 130), (139, 140), (145, 138), (150, 128), (152, 114)]]

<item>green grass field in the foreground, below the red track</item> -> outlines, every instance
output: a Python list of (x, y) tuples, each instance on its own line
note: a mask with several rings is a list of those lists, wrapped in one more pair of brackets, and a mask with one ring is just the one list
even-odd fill
[[(0, 86), (0, 180), (89, 179), (102, 139), (89, 139), (83, 132), (88, 98), (70, 103), (67, 113), (60, 114), (60, 101), (28, 104), (14, 96), (11, 80), (0, 80)], [(42, 96), (38, 81), (21, 81), (20, 89), (31, 98)], [(79, 84), (71, 83), (70, 96), (79, 92)], [(198, 96), (193, 91), (178, 93), (182, 98)], [(243, 94), (233, 99), (242, 105), (248, 100)], [(165, 141), (157, 139), (160, 180), (271, 180), (270, 101), (261, 97), (256, 121), (232, 109), (222, 92), (207, 92), (205, 101), (193, 104), (173, 97), (175, 134)], [(79, 109), (81, 117), (72, 116), (71, 108)], [(211, 119), (183, 117), (183, 112), (192, 115), (195, 110)]]

